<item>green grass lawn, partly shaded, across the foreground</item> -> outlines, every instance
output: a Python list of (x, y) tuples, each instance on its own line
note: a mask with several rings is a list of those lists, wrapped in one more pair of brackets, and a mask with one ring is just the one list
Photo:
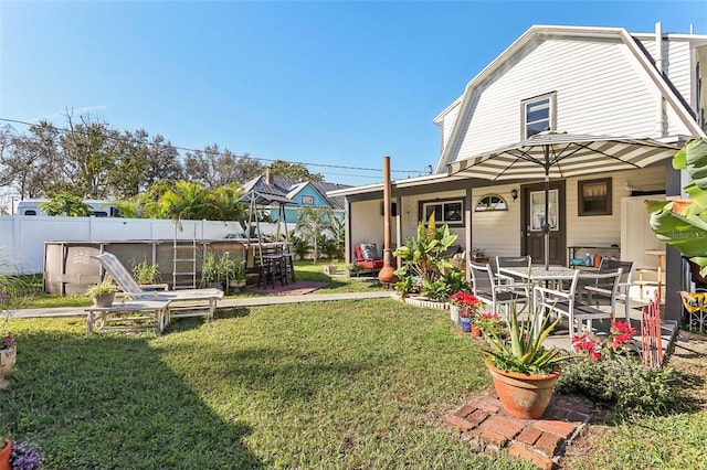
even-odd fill
[[(444, 425), (490, 387), (445, 311), (378, 299), (220, 310), (162, 335), (86, 338), (83, 318), (11, 328), (0, 436), (39, 442), (49, 469), (531, 468)], [(704, 352), (689, 361), (705, 397)], [(707, 468), (704, 403), (601, 429), (562, 468)]]

